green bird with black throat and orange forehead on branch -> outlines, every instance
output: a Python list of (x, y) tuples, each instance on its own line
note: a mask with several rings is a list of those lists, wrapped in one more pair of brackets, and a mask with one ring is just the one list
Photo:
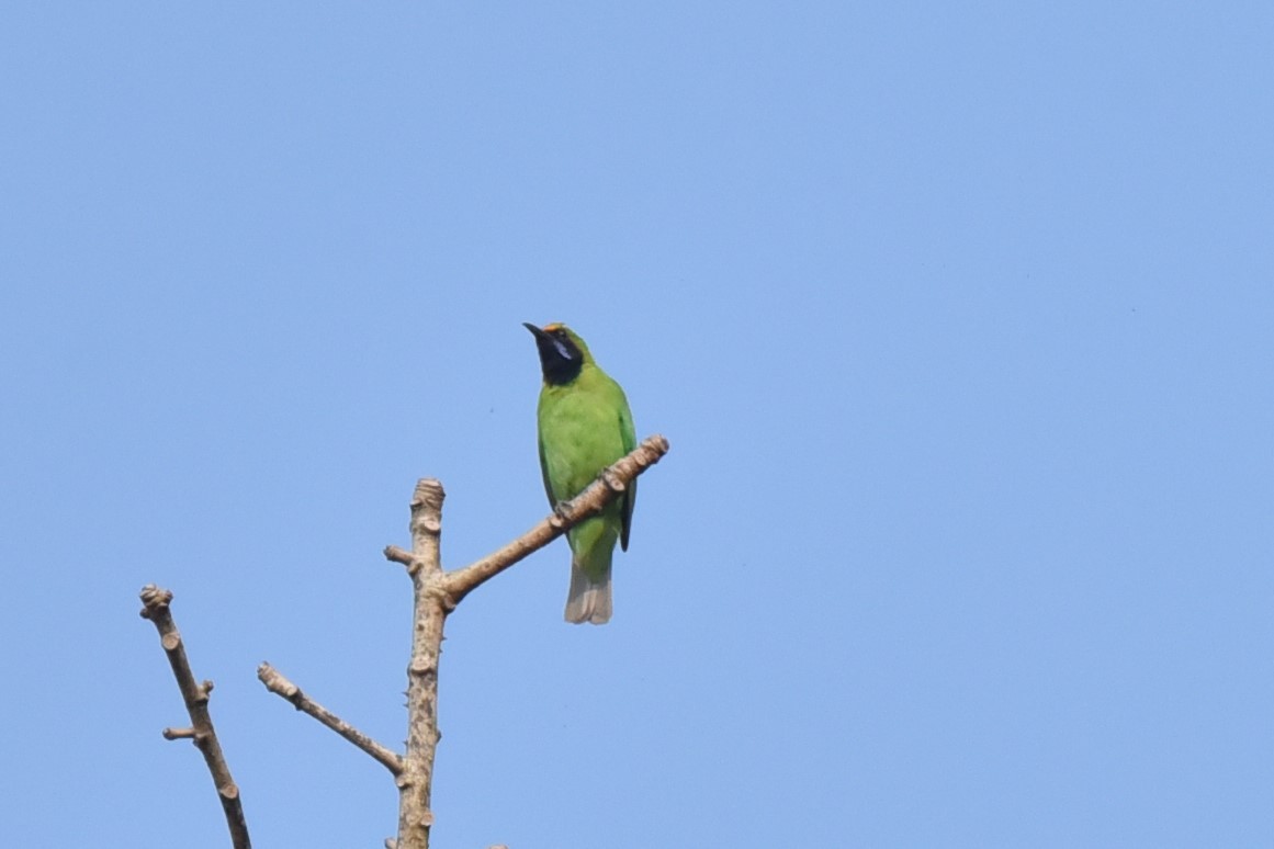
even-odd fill
[[(535, 336), (544, 388), (538, 411), (540, 471), (549, 504), (580, 494), (601, 471), (637, 447), (624, 391), (592, 361), (589, 346), (564, 325), (524, 325)], [(637, 481), (600, 514), (567, 532), (571, 591), (566, 621), (610, 621), (610, 556), (628, 550)]]

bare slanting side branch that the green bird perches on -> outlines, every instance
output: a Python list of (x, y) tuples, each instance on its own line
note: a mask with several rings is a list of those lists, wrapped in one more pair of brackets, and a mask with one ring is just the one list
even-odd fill
[(638, 475), (654, 466), (668, 453), (668, 440), (660, 435), (646, 438), (627, 457), (598, 476), (582, 493), (561, 505), (562, 509), (540, 521), (539, 524), (517, 537), (501, 550), (476, 560), (464, 569), (448, 572), (445, 586), (452, 603), (473, 592), (479, 584), (498, 575), (527, 555), (569, 531), (577, 523), (601, 510), (617, 498)]

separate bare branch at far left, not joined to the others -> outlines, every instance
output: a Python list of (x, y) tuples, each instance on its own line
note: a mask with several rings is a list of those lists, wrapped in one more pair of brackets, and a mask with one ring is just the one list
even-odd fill
[(141, 588), (141, 617), (154, 622), (159, 631), (159, 643), (168, 656), (168, 664), (177, 678), (177, 689), (186, 701), (186, 712), (190, 714), (190, 728), (166, 728), (163, 736), (167, 740), (192, 740), (199, 751), (204, 754), (208, 770), (213, 774), (213, 784), (217, 785), (217, 796), (222, 801), (222, 810), (225, 812), (225, 824), (231, 830), (231, 843), (234, 849), (250, 849), (252, 845), (247, 834), (247, 821), (243, 818), (243, 803), (240, 799), (238, 785), (231, 776), (231, 768), (222, 754), (220, 742), (217, 740), (217, 731), (213, 728), (213, 718), (208, 713), (208, 699), (213, 691), (213, 682), (195, 682), (195, 673), (190, 670), (190, 661), (186, 659), (186, 647), (182, 643), (181, 633), (172, 619), (169, 605), (172, 593), (161, 589), (154, 584)]

